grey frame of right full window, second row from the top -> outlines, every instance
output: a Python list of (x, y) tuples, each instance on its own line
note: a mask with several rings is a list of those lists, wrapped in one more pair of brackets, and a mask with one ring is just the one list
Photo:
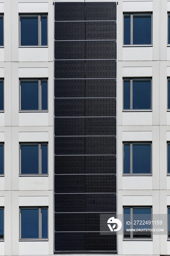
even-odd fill
[[(130, 80), (130, 109), (124, 109), (124, 80)], [(150, 109), (133, 109), (133, 80), (151, 80), (151, 108)], [(152, 110), (152, 78), (151, 77), (123, 78), (123, 111), (144, 111), (144, 110)]]

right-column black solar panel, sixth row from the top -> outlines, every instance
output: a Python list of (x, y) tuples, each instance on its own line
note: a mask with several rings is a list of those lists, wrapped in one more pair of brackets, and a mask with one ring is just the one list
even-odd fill
[(86, 99), (86, 116), (116, 116), (116, 99)]

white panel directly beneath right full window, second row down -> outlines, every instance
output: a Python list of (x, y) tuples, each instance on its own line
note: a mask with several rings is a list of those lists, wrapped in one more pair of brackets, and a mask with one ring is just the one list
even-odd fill
[(152, 125), (152, 112), (123, 112), (123, 125)]

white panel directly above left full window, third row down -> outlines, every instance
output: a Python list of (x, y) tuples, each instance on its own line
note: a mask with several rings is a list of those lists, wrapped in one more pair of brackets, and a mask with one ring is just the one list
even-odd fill
[(19, 142), (48, 142), (48, 132), (19, 132)]

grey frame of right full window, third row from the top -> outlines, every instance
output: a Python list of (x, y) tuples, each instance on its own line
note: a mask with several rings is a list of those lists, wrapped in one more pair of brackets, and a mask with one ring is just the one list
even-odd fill
[[(124, 144), (130, 144), (130, 173), (124, 173)], [(151, 172), (150, 173), (133, 173), (133, 166), (132, 166), (132, 161), (133, 161), (133, 144), (150, 144), (151, 145)], [(152, 142), (123, 142), (123, 175), (152, 175)]]

